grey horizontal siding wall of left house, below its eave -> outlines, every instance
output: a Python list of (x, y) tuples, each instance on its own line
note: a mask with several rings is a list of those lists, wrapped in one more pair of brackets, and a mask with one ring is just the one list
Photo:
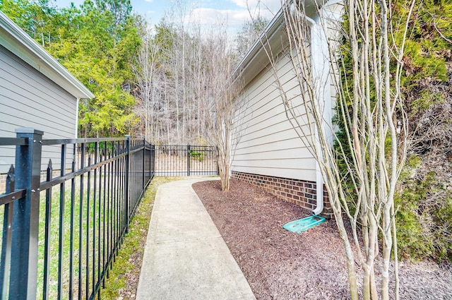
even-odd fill
[[(0, 136), (16, 137), (16, 128), (31, 127), (44, 131), (43, 138), (76, 137), (76, 97), (69, 94), (0, 46)], [(0, 148), (0, 174), (14, 162), (13, 148)], [(44, 149), (42, 169), (50, 158), (54, 165), (61, 150)]]

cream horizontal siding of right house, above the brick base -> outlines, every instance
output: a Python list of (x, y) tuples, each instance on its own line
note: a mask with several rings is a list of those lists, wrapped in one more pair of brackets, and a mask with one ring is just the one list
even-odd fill
[[(269, 68), (264, 68), (244, 89), (235, 122), (237, 135), (232, 138), (232, 171), (315, 181), (316, 162), (287, 119)], [(277, 68), (286, 94), (299, 97), (290, 60), (283, 57)], [(307, 124), (301, 102), (297, 101), (298, 118)]]

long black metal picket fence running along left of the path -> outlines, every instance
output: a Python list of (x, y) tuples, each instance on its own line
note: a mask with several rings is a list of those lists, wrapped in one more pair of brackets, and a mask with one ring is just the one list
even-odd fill
[[(42, 140), (42, 131), (17, 132), (0, 138), (16, 147), (0, 196), (0, 299), (99, 298), (155, 174), (154, 146), (128, 136)], [(49, 161), (41, 181), (47, 146), (59, 149), (59, 162)]]

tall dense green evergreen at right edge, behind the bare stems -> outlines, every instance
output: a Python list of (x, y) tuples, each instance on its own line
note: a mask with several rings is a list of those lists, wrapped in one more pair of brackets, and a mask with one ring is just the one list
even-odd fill
[[(394, 4), (394, 20), (405, 19), (409, 7), (403, 4)], [(452, 260), (452, 4), (422, 1), (415, 6), (409, 24), (394, 24), (398, 24), (392, 28), (396, 40), (403, 38), (406, 25), (410, 28), (400, 70), (404, 110), (397, 109), (398, 119), (402, 114), (408, 117), (408, 127), (398, 128), (400, 143), (408, 137), (407, 145), (400, 144), (400, 149), (408, 147), (408, 164), (395, 198), (398, 251), (402, 258)], [(352, 78), (349, 56), (343, 56), (343, 64), (349, 71), (343, 74), (345, 83), (346, 78)], [(347, 85), (350, 87), (350, 82)], [(335, 121), (343, 128), (340, 119)], [(345, 140), (345, 132), (340, 131), (338, 137)], [(347, 147), (343, 143), (345, 152), (350, 153)], [(351, 181), (349, 187), (347, 193), (354, 198)]]

